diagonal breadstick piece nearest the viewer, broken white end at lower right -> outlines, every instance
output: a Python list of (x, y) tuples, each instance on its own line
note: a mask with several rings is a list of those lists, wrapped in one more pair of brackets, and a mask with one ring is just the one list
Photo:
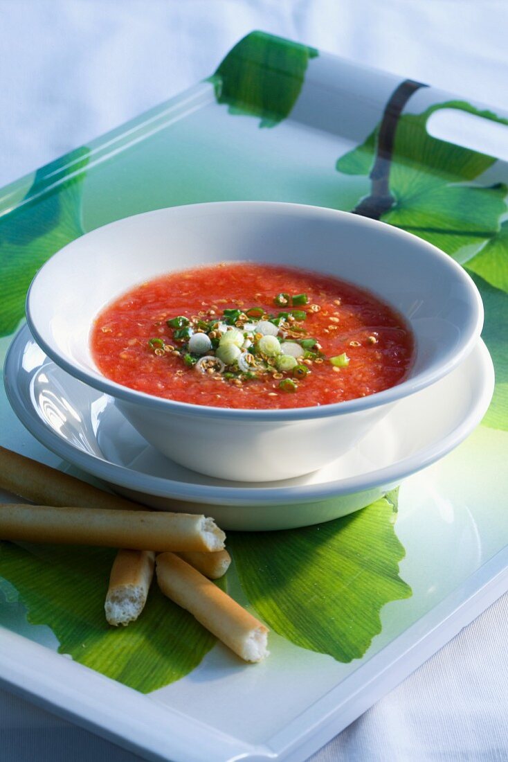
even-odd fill
[(156, 569), (161, 591), (190, 611), (235, 654), (245, 661), (261, 661), (268, 655), (268, 630), (264, 624), (199, 571), (174, 553), (158, 555)]

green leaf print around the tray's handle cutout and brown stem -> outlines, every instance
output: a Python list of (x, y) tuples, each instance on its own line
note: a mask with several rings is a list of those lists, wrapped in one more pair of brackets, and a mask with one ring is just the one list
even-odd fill
[[(506, 123), (490, 111), (475, 109), (464, 101), (447, 101), (421, 114), (404, 114), (398, 120), (389, 168), (394, 203), (380, 219), (456, 255), (468, 245), (478, 248), (499, 232), (508, 189), (504, 184), (482, 187), (472, 183), (494, 164), (495, 158), (436, 139), (427, 132), (427, 120), (443, 108), (466, 110)], [(361, 146), (339, 158), (337, 170), (343, 174), (369, 174), (378, 135), (379, 128)]]

